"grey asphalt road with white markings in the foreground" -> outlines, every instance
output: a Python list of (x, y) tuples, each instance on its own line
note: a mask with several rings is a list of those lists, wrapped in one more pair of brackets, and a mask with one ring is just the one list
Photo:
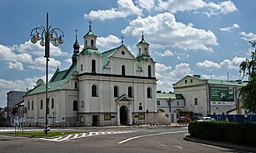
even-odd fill
[[(82, 131), (82, 129), (79, 129)], [(242, 152), (183, 140), (187, 127), (90, 128), (55, 139), (0, 135), (0, 153)]]

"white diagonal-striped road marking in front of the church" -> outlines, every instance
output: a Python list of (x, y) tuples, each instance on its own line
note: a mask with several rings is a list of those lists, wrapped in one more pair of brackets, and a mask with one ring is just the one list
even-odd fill
[(127, 134), (127, 133), (132, 133), (132, 132), (136, 132), (136, 131), (89, 132), (89, 133), (79, 133), (79, 134), (72, 134), (72, 135), (63, 135), (63, 136), (58, 136), (55, 138), (40, 138), (40, 139), (46, 140), (46, 141), (52, 141), (52, 142), (64, 142), (67, 140), (79, 139), (79, 138), (88, 137), (88, 136)]

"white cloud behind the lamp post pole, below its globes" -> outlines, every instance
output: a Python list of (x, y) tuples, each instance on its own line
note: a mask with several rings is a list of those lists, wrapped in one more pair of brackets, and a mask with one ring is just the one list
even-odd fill
[[(39, 69), (41, 71), (45, 71), (46, 67), (46, 59), (44, 57), (37, 57), (34, 59), (34, 62), (28, 67), (31, 69)], [(61, 62), (56, 61), (54, 58), (49, 58), (49, 69), (56, 69), (61, 66)]]

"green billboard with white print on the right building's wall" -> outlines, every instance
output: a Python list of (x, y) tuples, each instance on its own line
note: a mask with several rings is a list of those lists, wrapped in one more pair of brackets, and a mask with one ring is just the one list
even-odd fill
[(211, 105), (234, 105), (234, 88), (211, 86), (210, 87), (210, 101)]

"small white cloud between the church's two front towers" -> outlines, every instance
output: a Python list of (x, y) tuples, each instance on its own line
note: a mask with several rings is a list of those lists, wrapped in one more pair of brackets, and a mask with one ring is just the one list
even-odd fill
[(97, 46), (102, 47), (103, 50), (117, 47), (117, 45), (121, 45), (121, 40), (115, 35), (110, 34), (108, 37), (97, 38)]

